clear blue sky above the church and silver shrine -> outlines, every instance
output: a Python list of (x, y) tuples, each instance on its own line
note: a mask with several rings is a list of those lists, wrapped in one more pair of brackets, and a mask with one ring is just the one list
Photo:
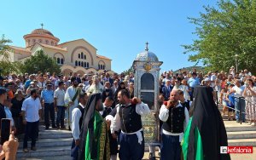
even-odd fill
[(60, 43), (84, 38), (98, 54), (112, 59), (112, 70), (128, 69), (137, 54), (148, 48), (164, 61), (162, 71), (194, 66), (182, 44), (192, 43), (195, 26), (187, 17), (198, 17), (203, 5), (216, 0), (33, 0), (3, 1), (0, 35), (24, 47), (23, 36), (40, 24)]

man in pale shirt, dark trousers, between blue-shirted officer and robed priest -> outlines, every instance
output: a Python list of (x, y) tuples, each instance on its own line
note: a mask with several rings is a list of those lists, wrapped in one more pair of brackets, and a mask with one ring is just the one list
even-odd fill
[(54, 106), (57, 111), (57, 119), (56, 119), (56, 126), (57, 129), (60, 128), (61, 123), (61, 129), (66, 129), (64, 126), (64, 117), (65, 117), (65, 91), (64, 91), (64, 83), (61, 81), (58, 83), (58, 89), (55, 90), (54, 94)]

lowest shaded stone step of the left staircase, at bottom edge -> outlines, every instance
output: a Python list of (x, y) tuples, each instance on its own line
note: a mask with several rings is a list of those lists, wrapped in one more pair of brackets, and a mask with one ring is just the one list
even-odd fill
[[(52, 147), (38, 147), (37, 151), (29, 151), (24, 153), (22, 150), (17, 151), (17, 159), (26, 159), (26, 157), (48, 157), (53, 159), (55, 156), (67, 157), (70, 155), (71, 146), (52, 146)], [(68, 158), (71, 159), (71, 158)], [(64, 158), (62, 160), (65, 160)]]

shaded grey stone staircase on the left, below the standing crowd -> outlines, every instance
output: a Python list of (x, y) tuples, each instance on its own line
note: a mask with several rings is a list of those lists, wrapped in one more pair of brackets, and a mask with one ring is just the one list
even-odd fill
[[(22, 139), (17, 151), (17, 159), (20, 160), (69, 160), (70, 148), (73, 141), (71, 131), (51, 129), (45, 130), (43, 125), (39, 126), (38, 141), (36, 144), (37, 151), (22, 151)], [(28, 141), (28, 149), (30, 149), (31, 141)]]

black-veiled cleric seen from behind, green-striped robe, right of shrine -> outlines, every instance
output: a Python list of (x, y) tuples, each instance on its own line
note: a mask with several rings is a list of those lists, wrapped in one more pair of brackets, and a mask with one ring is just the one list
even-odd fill
[(229, 154), (220, 154), (220, 146), (228, 146), (228, 140), (211, 89), (198, 86), (194, 95), (192, 117), (182, 142), (183, 159), (230, 160)]

